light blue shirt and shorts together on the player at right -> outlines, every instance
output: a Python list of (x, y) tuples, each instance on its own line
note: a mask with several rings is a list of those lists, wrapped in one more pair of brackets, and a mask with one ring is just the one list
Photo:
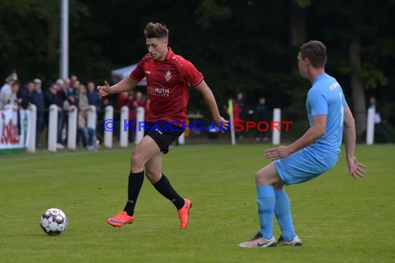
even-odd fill
[(346, 107), (340, 84), (326, 73), (319, 75), (308, 91), (306, 109), (310, 126), (313, 125), (313, 116), (326, 115), (326, 131), (304, 149), (274, 161), (286, 185), (309, 181), (335, 166), (342, 145)]

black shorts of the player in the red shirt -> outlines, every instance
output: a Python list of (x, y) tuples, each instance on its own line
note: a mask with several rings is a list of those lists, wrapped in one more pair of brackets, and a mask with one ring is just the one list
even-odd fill
[(184, 133), (184, 127), (179, 127), (164, 120), (158, 120), (153, 123), (148, 123), (144, 127), (144, 136), (148, 135), (161, 149), (164, 154), (168, 153), (168, 147), (171, 145), (181, 134)]

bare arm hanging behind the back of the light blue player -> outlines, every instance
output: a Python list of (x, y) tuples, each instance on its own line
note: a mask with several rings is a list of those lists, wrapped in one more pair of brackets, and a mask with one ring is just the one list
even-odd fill
[(349, 174), (358, 180), (365, 174), (365, 165), (358, 162), (355, 156), (356, 149), (356, 122), (349, 107), (344, 109), (344, 143), (346, 145), (346, 158), (349, 164)]

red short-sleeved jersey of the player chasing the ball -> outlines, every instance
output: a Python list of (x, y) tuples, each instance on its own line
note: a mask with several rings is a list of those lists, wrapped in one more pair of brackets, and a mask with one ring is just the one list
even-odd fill
[(146, 121), (183, 123), (188, 106), (188, 84), (196, 87), (203, 81), (203, 75), (171, 48), (164, 61), (152, 60), (148, 53), (130, 73), (130, 78), (140, 81), (147, 78), (147, 94), (150, 99), (150, 113)]

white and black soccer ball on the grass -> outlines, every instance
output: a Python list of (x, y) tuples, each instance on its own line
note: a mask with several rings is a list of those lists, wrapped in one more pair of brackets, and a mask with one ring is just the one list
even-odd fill
[(40, 226), (48, 235), (60, 235), (67, 228), (67, 218), (58, 208), (49, 208), (42, 213)]

